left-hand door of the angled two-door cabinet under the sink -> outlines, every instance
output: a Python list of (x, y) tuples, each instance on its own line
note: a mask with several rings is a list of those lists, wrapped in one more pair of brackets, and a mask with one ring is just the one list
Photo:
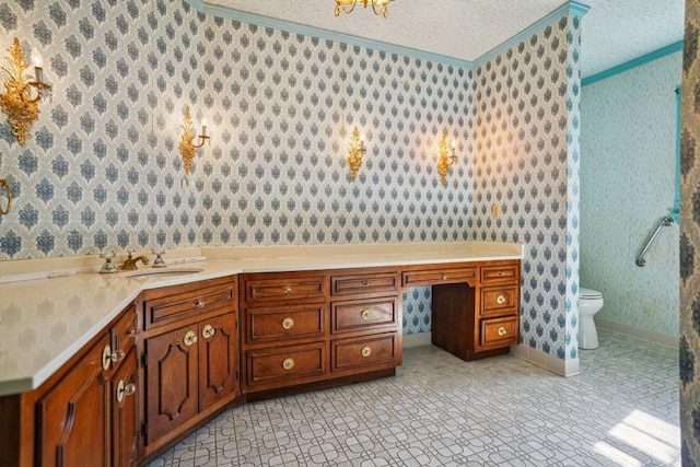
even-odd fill
[(145, 340), (145, 445), (197, 415), (198, 340), (197, 325)]

